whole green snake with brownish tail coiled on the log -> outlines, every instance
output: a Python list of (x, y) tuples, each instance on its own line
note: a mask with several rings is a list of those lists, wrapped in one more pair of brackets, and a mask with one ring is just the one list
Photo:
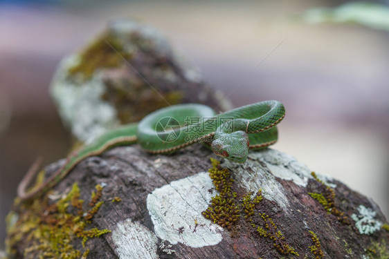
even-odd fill
[(266, 148), (277, 141), (275, 125), (284, 116), (284, 106), (278, 101), (258, 102), (219, 114), (203, 104), (161, 108), (141, 122), (120, 126), (71, 153), (60, 169), (27, 192), (40, 164), (39, 160), (35, 161), (21, 180), (17, 193), (21, 200), (35, 198), (60, 182), (84, 158), (100, 155), (114, 146), (134, 143), (148, 153), (172, 153), (195, 142), (203, 142), (216, 155), (243, 163), (249, 148)]

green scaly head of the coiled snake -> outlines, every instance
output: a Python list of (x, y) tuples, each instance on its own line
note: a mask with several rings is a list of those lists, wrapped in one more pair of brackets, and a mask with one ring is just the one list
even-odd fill
[(248, 154), (248, 135), (244, 131), (216, 133), (211, 145), (213, 153), (232, 162), (246, 162)]

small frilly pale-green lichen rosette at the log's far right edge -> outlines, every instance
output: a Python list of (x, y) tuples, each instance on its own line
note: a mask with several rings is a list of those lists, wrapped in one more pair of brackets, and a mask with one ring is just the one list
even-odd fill
[(366, 208), (363, 205), (359, 205), (358, 211), (359, 214), (356, 215), (353, 213), (351, 218), (355, 221), (355, 227), (359, 230), (359, 233), (370, 235), (381, 229), (382, 222), (374, 219), (377, 215), (376, 211)]

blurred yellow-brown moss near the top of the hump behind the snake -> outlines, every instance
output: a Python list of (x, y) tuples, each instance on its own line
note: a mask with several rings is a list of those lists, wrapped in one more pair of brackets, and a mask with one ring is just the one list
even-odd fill
[(80, 53), (80, 62), (69, 68), (69, 75), (80, 74), (84, 80), (92, 77), (99, 68), (116, 68), (131, 59), (131, 53), (124, 48), (123, 42), (106, 32)]

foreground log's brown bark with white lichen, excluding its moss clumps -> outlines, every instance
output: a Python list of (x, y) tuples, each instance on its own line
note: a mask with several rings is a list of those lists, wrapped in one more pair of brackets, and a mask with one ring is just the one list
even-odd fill
[[(221, 160), (221, 168), (228, 169), (234, 180), (240, 213), (230, 228), (202, 215), (218, 194), (208, 173), (210, 157)], [(63, 162), (48, 166), (48, 174)], [(386, 219), (377, 204), (341, 182), (323, 175), (315, 179), (307, 166), (272, 149), (251, 152), (246, 163), (236, 164), (215, 157), (200, 144), (172, 155), (150, 155), (137, 145), (118, 147), (80, 162), (54, 194), (69, 192), (75, 182), (84, 200), (96, 184), (104, 186), (101, 200), (105, 203), (91, 227), (111, 233), (87, 241), (88, 258), (321, 258), (318, 253), (314, 256), (313, 233), (323, 258), (388, 256), (389, 232), (382, 227)], [(263, 200), (255, 205), (249, 221), (244, 218), (242, 198), (248, 193), (253, 198), (260, 189)], [(329, 190), (335, 196), (327, 212), (309, 193), (328, 197)], [(121, 202), (111, 202), (114, 197)], [(26, 213), (21, 207), (15, 207), (15, 212)], [(257, 227), (275, 231), (266, 229), (266, 222), (271, 223), (260, 215), (271, 219), (284, 237), (279, 238), (280, 244), (293, 247), (298, 256), (282, 255), (273, 247), (271, 235), (258, 233)], [(72, 242), (82, 249), (80, 240)], [(30, 246), (31, 241), (24, 238), (13, 248), (22, 257)]]

